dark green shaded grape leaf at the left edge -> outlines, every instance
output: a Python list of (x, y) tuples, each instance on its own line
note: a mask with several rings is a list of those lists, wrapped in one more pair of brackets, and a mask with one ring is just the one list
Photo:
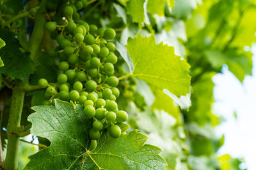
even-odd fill
[(33, 73), (33, 61), (29, 57), (29, 52), (20, 51), (22, 46), (13, 32), (1, 29), (0, 37), (6, 42), (6, 46), (0, 50), (4, 62), (4, 67), (0, 67), (0, 74), (6, 74), (13, 79), (19, 78), (28, 83), (29, 74)]

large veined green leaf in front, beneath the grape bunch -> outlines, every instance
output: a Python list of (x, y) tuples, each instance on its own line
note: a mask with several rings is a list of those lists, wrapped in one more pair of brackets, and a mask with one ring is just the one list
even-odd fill
[[(28, 117), (31, 133), (51, 141), (51, 145), (29, 157), (25, 169), (164, 169), (166, 162), (159, 148), (144, 145), (147, 136), (138, 131), (113, 139), (104, 132), (97, 148), (89, 151), (88, 129), (92, 120), (84, 119), (83, 107), (55, 101), (55, 106), (35, 106)], [(127, 125), (122, 125), (126, 131)], [(113, 164), (115, 162), (115, 164)]]

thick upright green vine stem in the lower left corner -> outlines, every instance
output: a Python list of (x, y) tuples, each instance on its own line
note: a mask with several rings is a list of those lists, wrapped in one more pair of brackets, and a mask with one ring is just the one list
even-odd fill
[(12, 103), (10, 108), (10, 116), (7, 124), (7, 152), (3, 167), (7, 170), (18, 169), (18, 152), (19, 140), (17, 132), (20, 127), (21, 113), (24, 102), (25, 92), (19, 87), (13, 87)]

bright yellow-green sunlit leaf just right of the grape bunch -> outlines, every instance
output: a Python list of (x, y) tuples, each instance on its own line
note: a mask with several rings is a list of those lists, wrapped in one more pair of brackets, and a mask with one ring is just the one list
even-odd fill
[(128, 39), (127, 51), (134, 63), (132, 76), (161, 90), (168, 89), (177, 97), (190, 92), (190, 66), (174, 54), (173, 46), (156, 45), (154, 36), (143, 38), (138, 34)]

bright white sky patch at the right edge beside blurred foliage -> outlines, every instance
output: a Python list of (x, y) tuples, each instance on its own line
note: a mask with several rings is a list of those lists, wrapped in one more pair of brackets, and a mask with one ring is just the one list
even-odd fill
[[(216, 128), (218, 136), (225, 135), (225, 144), (218, 154), (242, 157), (248, 170), (256, 169), (256, 46), (253, 46), (253, 75), (243, 84), (223, 67), (223, 74), (213, 77), (215, 83), (214, 113), (225, 118)], [(234, 116), (236, 113), (237, 118)]]

